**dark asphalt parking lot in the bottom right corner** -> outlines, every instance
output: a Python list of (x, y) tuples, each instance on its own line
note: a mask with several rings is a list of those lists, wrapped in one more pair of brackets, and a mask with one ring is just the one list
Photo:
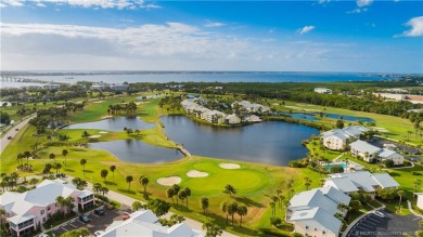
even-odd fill
[(415, 215), (397, 215), (387, 210), (381, 210), (385, 218), (380, 218), (373, 213), (361, 219), (347, 234), (354, 236), (414, 236), (419, 231), (421, 218)]

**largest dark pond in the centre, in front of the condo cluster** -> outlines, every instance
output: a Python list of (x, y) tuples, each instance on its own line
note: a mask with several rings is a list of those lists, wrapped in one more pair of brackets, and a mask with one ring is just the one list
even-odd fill
[(194, 155), (277, 166), (306, 157), (302, 146), (319, 131), (306, 126), (266, 121), (242, 128), (205, 126), (183, 116), (162, 118), (166, 134)]

